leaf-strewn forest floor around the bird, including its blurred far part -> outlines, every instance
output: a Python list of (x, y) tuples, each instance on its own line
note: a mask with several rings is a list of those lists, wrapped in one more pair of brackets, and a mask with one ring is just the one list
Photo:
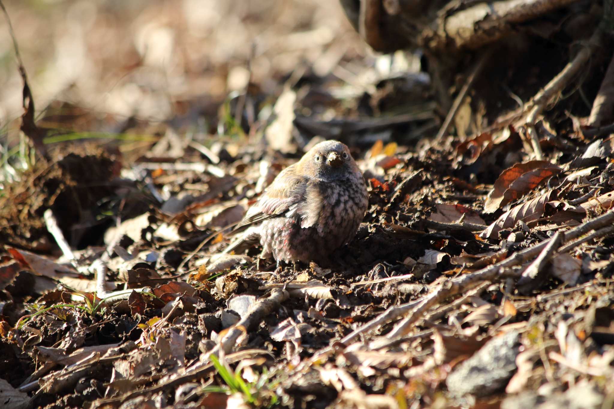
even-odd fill
[[(19, 131), (2, 59), (0, 406), (613, 407), (614, 137), (578, 122), (599, 83), (539, 121), (543, 160), (476, 120), (564, 47), (437, 140), (421, 58), (368, 52), (336, 2), (4, 3), (42, 110)], [(369, 191), (335, 263), (211, 263), (323, 139)]]

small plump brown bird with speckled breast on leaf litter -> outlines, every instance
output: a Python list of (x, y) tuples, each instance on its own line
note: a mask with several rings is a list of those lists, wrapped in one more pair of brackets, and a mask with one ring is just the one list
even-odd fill
[(356, 234), (367, 210), (367, 186), (348, 147), (327, 140), (282, 170), (248, 210), (223, 251), (262, 245), (262, 258), (328, 261)]

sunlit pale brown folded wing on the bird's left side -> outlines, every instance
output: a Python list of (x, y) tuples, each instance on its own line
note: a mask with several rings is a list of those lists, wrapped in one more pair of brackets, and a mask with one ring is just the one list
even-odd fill
[[(293, 166), (284, 169), (273, 183), (260, 196), (257, 202), (247, 210), (247, 214), (235, 227), (235, 231), (243, 229), (250, 224), (258, 223), (271, 217), (282, 215), (305, 198), (308, 186), (304, 177), (297, 177)], [(289, 215), (292, 216), (292, 215)]]

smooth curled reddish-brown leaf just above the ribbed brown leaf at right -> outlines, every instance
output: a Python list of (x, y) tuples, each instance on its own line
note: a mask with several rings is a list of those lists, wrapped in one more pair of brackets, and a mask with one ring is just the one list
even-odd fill
[(558, 172), (561, 172), (561, 168), (548, 161), (517, 163), (503, 170), (486, 199), (484, 212), (497, 211), (501, 206), (532, 191)]

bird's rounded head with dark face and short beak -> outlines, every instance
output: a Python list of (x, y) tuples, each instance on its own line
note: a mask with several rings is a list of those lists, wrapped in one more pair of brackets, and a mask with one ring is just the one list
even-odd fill
[(348, 147), (337, 140), (325, 140), (311, 148), (299, 162), (300, 169), (324, 182), (343, 180), (358, 170)]

